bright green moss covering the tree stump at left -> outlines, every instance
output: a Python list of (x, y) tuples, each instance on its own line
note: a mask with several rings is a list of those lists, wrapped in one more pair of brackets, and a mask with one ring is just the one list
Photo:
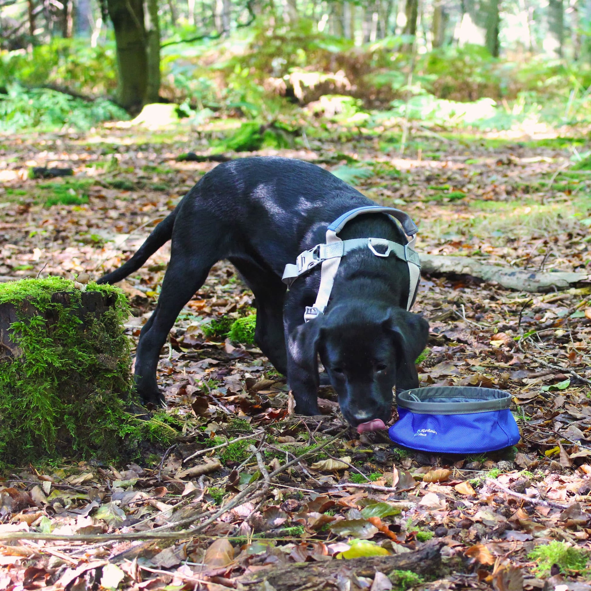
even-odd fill
[(122, 326), (128, 303), (111, 285), (87, 285), (93, 292), (109, 307), (83, 316), (72, 281), (0, 285), (0, 304), (14, 306), (11, 338), (22, 352), (0, 362), (0, 465), (72, 453), (115, 460), (137, 456), (143, 439), (164, 442), (176, 434), (162, 418), (142, 421), (126, 411), (135, 402)]

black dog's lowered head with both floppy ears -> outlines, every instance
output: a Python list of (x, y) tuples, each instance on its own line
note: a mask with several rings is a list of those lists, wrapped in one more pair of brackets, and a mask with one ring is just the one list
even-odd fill
[(427, 345), (429, 325), (418, 314), (372, 302), (339, 304), (301, 326), (302, 366), (317, 371), (316, 356), (353, 427), (391, 418), (392, 389), (418, 388), (415, 359)]

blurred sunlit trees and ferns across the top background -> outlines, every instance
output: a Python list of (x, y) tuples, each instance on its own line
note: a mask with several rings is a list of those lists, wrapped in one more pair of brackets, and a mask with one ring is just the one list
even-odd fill
[(586, 116), (590, 39), (591, 0), (0, 0), (0, 115), (269, 119), (333, 97), (318, 109), (466, 119), (448, 103), (489, 99), (564, 124)]

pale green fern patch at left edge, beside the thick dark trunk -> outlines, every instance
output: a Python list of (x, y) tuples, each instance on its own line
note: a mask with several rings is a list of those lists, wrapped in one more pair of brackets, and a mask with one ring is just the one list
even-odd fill
[(102, 121), (127, 118), (125, 111), (105, 99), (85, 102), (56, 90), (25, 90), (16, 84), (8, 86), (7, 94), (0, 94), (0, 132), (86, 130)]

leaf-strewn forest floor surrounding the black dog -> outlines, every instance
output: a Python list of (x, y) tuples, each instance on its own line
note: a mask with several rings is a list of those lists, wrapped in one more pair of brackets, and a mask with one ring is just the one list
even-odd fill
[[(177, 161), (205, 153), (196, 134), (181, 135), (1, 139), (0, 275), (98, 278), (125, 261), (216, 166)], [(589, 269), (591, 176), (571, 161), (583, 140), (450, 134), (417, 145), (405, 157), (371, 138), (256, 154), (340, 168), (368, 197), (410, 213), (420, 252)], [(28, 178), (44, 165), (74, 176)], [(168, 254), (120, 284), (134, 343)], [(204, 335), (212, 317), (254, 304), (233, 268), (216, 264), (161, 355), (182, 437), (126, 466), (64, 459), (5, 473), (0, 590), (591, 589), (590, 293), (423, 278), (422, 384), (507, 389), (522, 433), (502, 452), (439, 456), (400, 449), (385, 431), (358, 436), (330, 388), (322, 417), (294, 415), (285, 379), (256, 346)]]

